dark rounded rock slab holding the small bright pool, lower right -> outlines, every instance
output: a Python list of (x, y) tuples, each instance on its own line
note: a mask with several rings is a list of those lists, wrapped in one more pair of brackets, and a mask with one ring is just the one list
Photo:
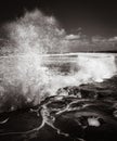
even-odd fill
[[(74, 138), (101, 141), (103, 136), (103, 141), (112, 141), (112, 136), (117, 132), (117, 120), (106, 111), (108, 110), (103, 112), (98, 106), (95, 108), (90, 106), (82, 110), (66, 111), (56, 116), (54, 126)], [(90, 131), (92, 131), (92, 136)], [(110, 132), (107, 134), (108, 139), (106, 138), (107, 132)], [(115, 138), (117, 139), (117, 137)]]

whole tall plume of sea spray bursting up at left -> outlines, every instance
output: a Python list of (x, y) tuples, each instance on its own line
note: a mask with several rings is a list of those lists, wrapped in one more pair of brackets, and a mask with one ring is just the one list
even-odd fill
[(26, 12), (15, 22), (4, 24), (4, 33), (9, 42), (0, 53), (0, 107), (5, 103), (9, 107), (22, 107), (17, 95), (22, 95), (26, 104), (37, 104), (44, 94), (49, 95), (47, 87), (52, 77), (42, 65), (40, 54), (62, 52), (65, 30), (58, 27), (54, 17), (35, 10)]

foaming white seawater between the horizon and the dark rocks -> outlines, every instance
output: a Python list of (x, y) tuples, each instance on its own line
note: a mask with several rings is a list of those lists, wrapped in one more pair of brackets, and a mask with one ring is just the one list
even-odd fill
[[(116, 76), (114, 53), (35, 53), (0, 57), (0, 110), (39, 104), (60, 88), (103, 82)], [(8, 104), (8, 107), (4, 105)]]

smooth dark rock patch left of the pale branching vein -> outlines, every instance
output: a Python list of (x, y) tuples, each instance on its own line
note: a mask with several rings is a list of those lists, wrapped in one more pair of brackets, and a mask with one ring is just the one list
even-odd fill
[[(5, 117), (4, 119), (3, 116)], [(32, 112), (30, 108), (2, 113), (0, 117), (2, 119), (0, 123), (0, 134), (26, 132), (38, 128), (42, 123), (41, 114)]]

